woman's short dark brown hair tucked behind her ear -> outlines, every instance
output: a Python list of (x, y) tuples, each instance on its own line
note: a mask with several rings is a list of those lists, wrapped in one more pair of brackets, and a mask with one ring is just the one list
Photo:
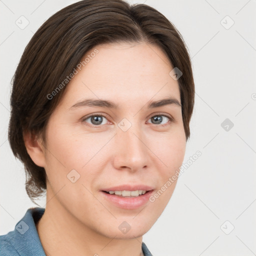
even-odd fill
[(187, 47), (175, 26), (146, 4), (123, 0), (82, 0), (48, 18), (27, 44), (15, 71), (11, 92), (8, 139), (15, 157), (24, 163), (25, 188), (29, 198), (46, 189), (46, 174), (26, 151), (23, 132), (44, 134), (49, 116), (66, 86), (51, 93), (71, 73), (86, 52), (111, 42), (156, 44), (173, 67), (178, 79), (186, 140), (194, 105), (194, 82)]

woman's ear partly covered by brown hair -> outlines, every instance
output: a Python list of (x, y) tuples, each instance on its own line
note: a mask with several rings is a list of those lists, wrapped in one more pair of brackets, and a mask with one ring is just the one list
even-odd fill
[(45, 154), (40, 139), (31, 131), (23, 133), (23, 139), (27, 153), (32, 161), (41, 167), (45, 167)]

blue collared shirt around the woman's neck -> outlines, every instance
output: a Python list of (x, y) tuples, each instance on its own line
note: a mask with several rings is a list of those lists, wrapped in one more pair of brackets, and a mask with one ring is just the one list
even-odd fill
[[(27, 209), (13, 231), (0, 235), (0, 256), (45, 256), (35, 227), (44, 210), (40, 207)], [(144, 242), (141, 248), (144, 256), (152, 256)]]

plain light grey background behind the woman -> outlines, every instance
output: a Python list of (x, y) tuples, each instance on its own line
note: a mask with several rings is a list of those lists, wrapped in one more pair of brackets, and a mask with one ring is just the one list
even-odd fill
[[(0, 234), (13, 230), (27, 208), (37, 206), (26, 195), (23, 166), (7, 141), (10, 80), (32, 34), (73, 2), (0, 0)], [(162, 12), (189, 48), (196, 95), (184, 162), (201, 151), (179, 177), (167, 207), (143, 241), (155, 256), (253, 255), (256, 1), (129, 2), (144, 2)], [(15, 24), (21, 15), (29, 21), (24, 29)], [(229, 124), (222, 128), (226, 118)], [(45, 198), (38, 200), (41, 207), (44, 203)]]

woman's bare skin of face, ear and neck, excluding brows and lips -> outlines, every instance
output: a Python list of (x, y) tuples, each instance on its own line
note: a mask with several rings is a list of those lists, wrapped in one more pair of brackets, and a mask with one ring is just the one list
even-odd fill
[[(180, 102), (178, 81), (169, 75), (173, 67), (161, 49), (144, 42), (96, 48), (98, 54), (68, 83), (51, 114), (44, 146), (24, 135), (30, 157), (47, 174), (45, 212), (36, 224), (46, 255), (143, 255), (142, 235), (162, 213), (177, 180), (137, 209), (113, 205), (100, 190), (142, 183), (158, 191), (185, 153), (181, 107), (146, 106), (166, 96)], [(111, 100), (119, 108), (70, 108), (85, 98)], [(106, 118), (92, 127), (85, 120), (92, 113)], [(157, 124), (151, 117), (159, 113), (174, 120), (161, 115), (163, 125)], [(131, 123), (125, 132), (118, 127), (123, 118)], [(72, 169), (80, 174), (74, 183), (66, 176)], [(131, 226), (125, 234), (118, 229), (123, 221)]]

